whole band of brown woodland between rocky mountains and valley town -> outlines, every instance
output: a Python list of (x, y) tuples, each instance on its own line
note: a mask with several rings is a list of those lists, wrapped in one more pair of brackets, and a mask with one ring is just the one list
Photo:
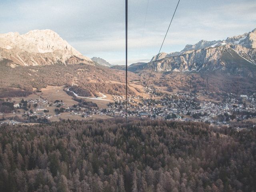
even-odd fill
[[(125, 73), (123, 70), (109, 69), (86, 64), (52, 66), (27, 66), (10, 68), (0, 63), (0, 98), (27, 96), (32, 88), (52, 86), (72, 86), (77, 84), (83, 96), (104, 94), (125, 94)], [(129, 81), (146, 84), (150, 71), (129, 72)], [(120, 82), (122, 84), (120, 84)], [(228, 72), (153, 72), (148, 84), (166, 86), (169, 90), (208, 90), (235, 94), (256, 92), (256, 79), (234, 76)], [(129, 94), (134, 92), (128, 89)]]

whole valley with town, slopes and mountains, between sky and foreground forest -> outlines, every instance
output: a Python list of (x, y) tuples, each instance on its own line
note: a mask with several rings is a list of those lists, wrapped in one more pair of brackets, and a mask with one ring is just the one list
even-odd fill
[[(202, 40), (180, 52), (161, 53), (148, 63), (131, 64), (128, 117), (251, 126), (256, 118), (255, 34), (252, 30), (222, 41)], [(8, 38), (17, 41), (10, 44)], [(51, 30), (2, 34), (1, 41), (0, 47), (6, 49), (0, 59), (1, 123), (126, 116), (124, 66), (82, 56)], [(34, 44), (22, 51), (31, 58), (28, 64), (6, 54), (19, 54), (17, 49), (28, 42)], [(58, 59), (57, 52), (65, 55), (58, 62), (51, 60), (53, 54)], [(33, 64), (35, 54), (48, 54), (48, 62)]]

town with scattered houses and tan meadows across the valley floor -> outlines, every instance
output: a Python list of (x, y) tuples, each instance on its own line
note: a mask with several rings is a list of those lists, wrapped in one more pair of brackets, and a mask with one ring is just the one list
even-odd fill
[[(0, 124), (33, 124), (62, 119), (92, 120), (126, 118), (124, 95), (107, 95), (106, 99), (68, 95), (65, 87), (48, 86), (26, 98), (4, 98), (2, 105), (10, 112), (0, 113)], [(207, 90), (168, 92), (150, 85), (141, 95), (128, 96), (128, 118), (206, 122), (213, 126), (250, 128), (256, 121), (256, 93), (236, 95)], [(103, 95), (103, 94), (102, 94)]]

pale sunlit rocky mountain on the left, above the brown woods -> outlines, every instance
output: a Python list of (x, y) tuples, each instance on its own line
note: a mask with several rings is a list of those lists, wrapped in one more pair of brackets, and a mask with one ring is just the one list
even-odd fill
[(0, 62), (15, 66), (94, 64), (52, 30), (0, 34)]

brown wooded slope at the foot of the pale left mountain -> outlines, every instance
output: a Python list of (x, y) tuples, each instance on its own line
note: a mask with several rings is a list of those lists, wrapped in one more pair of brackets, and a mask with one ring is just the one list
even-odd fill
[[(125, 94), (125, 74), (120, 70), (110, 70), (87, 64), (51, 66), (28, 66), (10, 68), (0, 61), (0, 98), (26, 96), (33, 88), (52, 86), (72, 86), (77, 84), (85, 96), (104, 94)], [(130, 80), (139, 80), (129, 73)], [(129, 93), (134, 94), (130, 88)]]

